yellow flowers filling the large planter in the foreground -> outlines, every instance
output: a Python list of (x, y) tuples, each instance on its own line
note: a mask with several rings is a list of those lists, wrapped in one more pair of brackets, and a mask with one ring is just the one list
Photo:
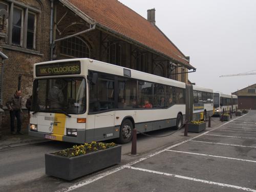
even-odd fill
[(87, 153), (96, 152), (99, 150), (105, 150), (106, 148), (110, 148), (116, 146), (115, 143), (102, 143), (93, 141), (91, 143), (84, 143), (81, 145), (74, 145), (72, 148), (67, 148), (66, 150), (62, 150), (60, 152), (56, 152), (55, 155), (65, 156), (65, 157), (75, 157), (79, 155), (84, 155)]

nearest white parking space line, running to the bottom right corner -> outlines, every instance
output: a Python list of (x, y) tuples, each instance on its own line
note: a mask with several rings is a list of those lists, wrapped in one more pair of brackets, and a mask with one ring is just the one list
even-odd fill
[(207, 184), (212, 184), (212, 185), (219, 185), (219, 186), (222, 186), (222, 187), (236, 188), (236, 189), (240, 189), (240, 190), (256, 192), (255, 189), (251, 189), (251, 188), (241, 187), (241, 186), (237, 186), (237, 185), (229, 185), (229, 184), (219, 183), (219, 182), (214, 182), (214, 181), (207, 181), (207, 180), (203, 180), (203, 179), (196, 179), (196, 178), (193, 178), (193, 177), (186, 177), (186, 176), (181, 176), (181, 175), (176, 175), (176, 174), (168, 174), (168, 173), (164, 173), (164, 172), (157, 172), (156, 170), (149, 170), (149, 169), (133, 167), (133, 166), (126, 166), (125, 168), (140, 170), (142, 172), (147, 172), (147, 173), (152, 173), (152, 174), (176, 177), (176, 178), (186, 179), (186, 180), (190, 180), (190, 181), (207, 183)]

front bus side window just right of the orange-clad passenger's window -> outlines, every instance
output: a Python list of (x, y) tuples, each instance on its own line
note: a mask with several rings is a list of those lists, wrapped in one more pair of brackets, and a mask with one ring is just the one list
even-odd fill
[(155, 83), (153, 94), (154, 108), (165, 108), (165, 86)]

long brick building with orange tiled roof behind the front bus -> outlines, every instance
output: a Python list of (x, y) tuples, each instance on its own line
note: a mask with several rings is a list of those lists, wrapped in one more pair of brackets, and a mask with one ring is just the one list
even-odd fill
[(196, 70), (156, 26), (155, 9), (147, 19), (117, 0), (0, 0), (0, 9), (7, 11), (0, 49), (8, 56), (0, 131), (9, 126), (8, 97), (20, 88), (25, 106), (31, 95), (36, 62), (89, 57), (186, 83)]

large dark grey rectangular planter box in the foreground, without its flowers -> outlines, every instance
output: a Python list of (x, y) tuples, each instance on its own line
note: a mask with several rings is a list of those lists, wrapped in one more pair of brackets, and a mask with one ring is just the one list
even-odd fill
[(76, 157), (45, 154), (46, 174), (73, 180), (121, 162), (121, 145)]

